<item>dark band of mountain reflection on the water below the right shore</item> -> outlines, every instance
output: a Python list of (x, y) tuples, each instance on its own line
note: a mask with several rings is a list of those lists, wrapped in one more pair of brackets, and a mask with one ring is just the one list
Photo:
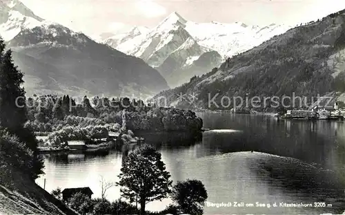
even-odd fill
[[(241, 130), (242, 133), (204, 133), (203, 144), (223, 153), (234, 151), (262, 151), (316, 162), (327, 169), (339, 168), (335, 162), (337, 149), (345, 143), (342, 122), (306, 122), (279, 120), (268, 116), (204, 115), (205, 127)], [(209, 118), (212, 117), (213, 120)], [(215, 144), (217, 142), (217, 144)], [(340, 152), (344, 154), (344, 151)]]

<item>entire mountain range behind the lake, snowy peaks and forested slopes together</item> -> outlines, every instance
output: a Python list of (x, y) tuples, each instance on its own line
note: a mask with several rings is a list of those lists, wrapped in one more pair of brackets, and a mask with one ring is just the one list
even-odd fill
[[(197, 24), (173, 12), (155, 28), (135, 27), (99, 43), (41, 19), (19, 0), (0, 0), (0, 6), (0, 35), (25, 73), (29, 94), (162, 91), (157, 96), (170, 104), (196, 108), (210, 108), (208, 96), (217, 93), (333, 93), (345, 101), (343, 11), (290, 30), (275, 24)], [(196, 100), (181, 101), (181, 94)]]

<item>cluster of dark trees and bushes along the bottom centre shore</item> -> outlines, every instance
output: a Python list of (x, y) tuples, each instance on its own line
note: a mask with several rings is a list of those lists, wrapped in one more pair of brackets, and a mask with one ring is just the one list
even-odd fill
[[(144, 144), (128, 154), (123, 161), (119, 183), (121, 198), (110, 203), (105, 198), (107, 189), (112, 183), (101, 179), (103, 198), (91, 199), (77, 193), (68, 200), (68, 205), (80, 214), (191, 214), (204, 213), (204, 203), (208, 198), (204, 185), (199, 180), (179, 181), (172, 187), (170, 174), (161, 161), (161, 154), (154, 148)], [(110, 185), (110, 186), (108, 186)], [(52, 191), (56, 198), (61, 199), (61, 189)], [(161, 212), (146, 212), (146, 203), (162, 198), (171, 198), (174, 204), (168, 205)], [(140, 209), (133, 204), (139, 203)]]

